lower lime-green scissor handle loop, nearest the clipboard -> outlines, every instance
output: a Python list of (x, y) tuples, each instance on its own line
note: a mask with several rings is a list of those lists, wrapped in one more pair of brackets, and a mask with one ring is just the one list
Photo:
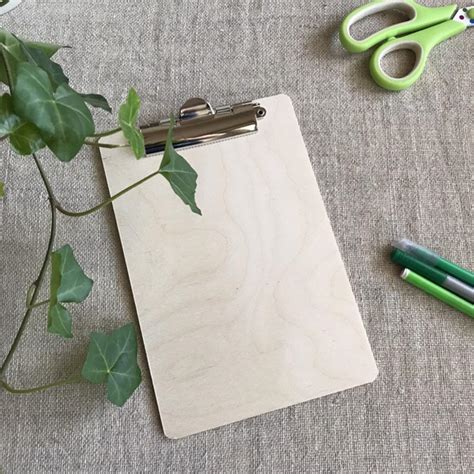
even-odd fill
[[(467, 26), (454, 20), (447, 20), (425, 30), (393, 38), (379, 46), (370, 58), (370, 73), (374, 81), (384, 89), (400, 91), (416, 82), (425, 69), (426, 60), (431, 49), (438, 43), (463, 32)], [(415, 52), (416, 60), (413, 69), (404, 77), (389, 76), (381, 67), (382, 58), (399, 49), (410, 49)]]

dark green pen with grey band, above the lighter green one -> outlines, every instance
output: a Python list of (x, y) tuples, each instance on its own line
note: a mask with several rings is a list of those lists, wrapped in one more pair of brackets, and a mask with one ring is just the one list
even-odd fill
[(409, 268), (428, 280), (456, 293), (461, 298), (474, 303), (474, 288), (457, 278), (448, 275), (446, 272), (431, 267), (423, 261), (415, 258), (399, 249), (393, 249), (392, 260), (401, 267)]

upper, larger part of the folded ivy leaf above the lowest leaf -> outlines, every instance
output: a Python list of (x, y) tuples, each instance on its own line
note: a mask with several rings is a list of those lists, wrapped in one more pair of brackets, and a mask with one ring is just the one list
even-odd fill
[(70, 245), (51, 254), (50, 303), (82, 303), (92, 289), (93, 281), (77, 263)]

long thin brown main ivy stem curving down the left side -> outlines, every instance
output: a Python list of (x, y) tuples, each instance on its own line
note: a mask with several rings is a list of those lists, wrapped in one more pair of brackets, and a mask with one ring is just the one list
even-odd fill
[[(53, 191), (51, 189), (51, 185), (49, 184), (48, 178), (46, 177), (43, 171), (41, 163), (39, 162), (38, 157), (34, 153), (33, 153), (33, 159), (36, 163), (36, 167), (38, 168), (38, 171), (40, 172), (41, 179), (43, 180), (46, 191), (48, 192), (49, 204), (51, 207), (51, 227), (50, 227), (50, 233), (49, 233), (48, 248), (46, 250), (46, 255), (44, 257), (43, 264), (41, 265), (38, 278), (34, 282), (34, 291), (33, 291), (33, 294), (31, 295), (30, 304), (26, 310), (25, 315), (23, 316), (23, 320), (21, 321), (20, 328), (18, 329), (15, 339), (13, 340), (10, 350), (8, 351), (8, 354), (2, 364), (2, 367), (0, 368), (0, 377), (2, 377), (5, 374), (5, 371), (13, 357), (13, 354), (15, 353), (16, 348), (18, 347), (21, 336), (23, 335), (25, 328), (28, 324), (28, 321), (31, 317), (33, 306), (35, 305), (36, 298), (38, 297), (38, 293), (40, 291), (41, 283), (43, 282), (44, 275), (48, 267), (49, 256), (53, 250), (54, 237), (56, 235), (56, 205), (57, 205), (56, 198), (54, 197)], [(2, 382), (2, 385), (4, 384), (5, 382)]]

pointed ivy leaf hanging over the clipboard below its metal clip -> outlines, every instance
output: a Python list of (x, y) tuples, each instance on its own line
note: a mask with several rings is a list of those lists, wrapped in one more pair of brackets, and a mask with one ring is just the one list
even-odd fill
[(201, 210), (197, 207), (195, 200), (197, 173), (181, 155), (176, 153), (173, 147), (173, 127), (174, 118), (171, 117), (159, 171), (184, 204), (187, 204), (194, 213), (201, 215)]

